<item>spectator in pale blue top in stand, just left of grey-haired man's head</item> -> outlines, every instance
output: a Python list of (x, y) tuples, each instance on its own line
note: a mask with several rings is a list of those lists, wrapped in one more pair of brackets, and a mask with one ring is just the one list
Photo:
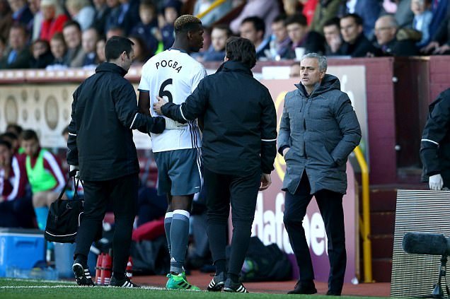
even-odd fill
[(274, 60), (286, 59), (289, 55), (291, 39), (287, 35), (284, 22), (286, 15), (278, 15), (272, 22), (272, 37), (270, 39), (270, 56)]

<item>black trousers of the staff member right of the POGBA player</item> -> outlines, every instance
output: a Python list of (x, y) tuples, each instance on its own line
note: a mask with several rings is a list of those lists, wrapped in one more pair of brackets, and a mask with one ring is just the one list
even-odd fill
[(212, 259), (226, 259), (226, 227), (230, 213), (233, 223), (228, 273), (239, 276), (250, 242), (256, 197), (261, 172), (251, 175), (222, 175), (204, 168), (204, 186), (207, 192), (207, 235)]

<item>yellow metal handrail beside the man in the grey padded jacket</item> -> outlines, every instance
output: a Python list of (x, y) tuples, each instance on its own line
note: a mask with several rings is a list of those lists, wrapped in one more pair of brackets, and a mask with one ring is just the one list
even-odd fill
[(362, 238), (364, 282), (372, 281), (372, 247), (370, 240), (370, 199), (369, 199), (369, 168), (361, 148), (354, 148), (354, 155), (357, 158), (359, 168), (361, 168), (362, 178), (362, 216), (359, 216), (359, 233)]

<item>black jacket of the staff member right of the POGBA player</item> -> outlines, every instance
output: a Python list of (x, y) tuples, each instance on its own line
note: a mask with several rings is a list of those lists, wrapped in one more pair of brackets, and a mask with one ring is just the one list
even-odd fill
[(178, 122), (203, 118), (202, 157), (208, 170), (250, 175), (274, 169), (275, 105), (269, 90), (240, 62), (226, 61), (182, 105), (167, 103), (161, 110)]

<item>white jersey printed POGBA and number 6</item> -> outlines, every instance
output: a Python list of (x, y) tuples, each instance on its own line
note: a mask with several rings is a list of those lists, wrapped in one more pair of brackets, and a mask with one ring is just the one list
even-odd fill
[[(180, 105), (205, 76), (207, 72), (204, 66), (189, 54), (179, 49), (167, 49), (151, 57), (142, 66), (138, 90), (149, 92), (150, 113), (155, 117), (159, 116), (153, 110), (153, 104), (157, 102), (156, 95)], [(162, 134), (151, 133), (154, 153), (201, 146), (197, 122), (188, 122), (187, 126), (180, 129), (164, 130)]]

